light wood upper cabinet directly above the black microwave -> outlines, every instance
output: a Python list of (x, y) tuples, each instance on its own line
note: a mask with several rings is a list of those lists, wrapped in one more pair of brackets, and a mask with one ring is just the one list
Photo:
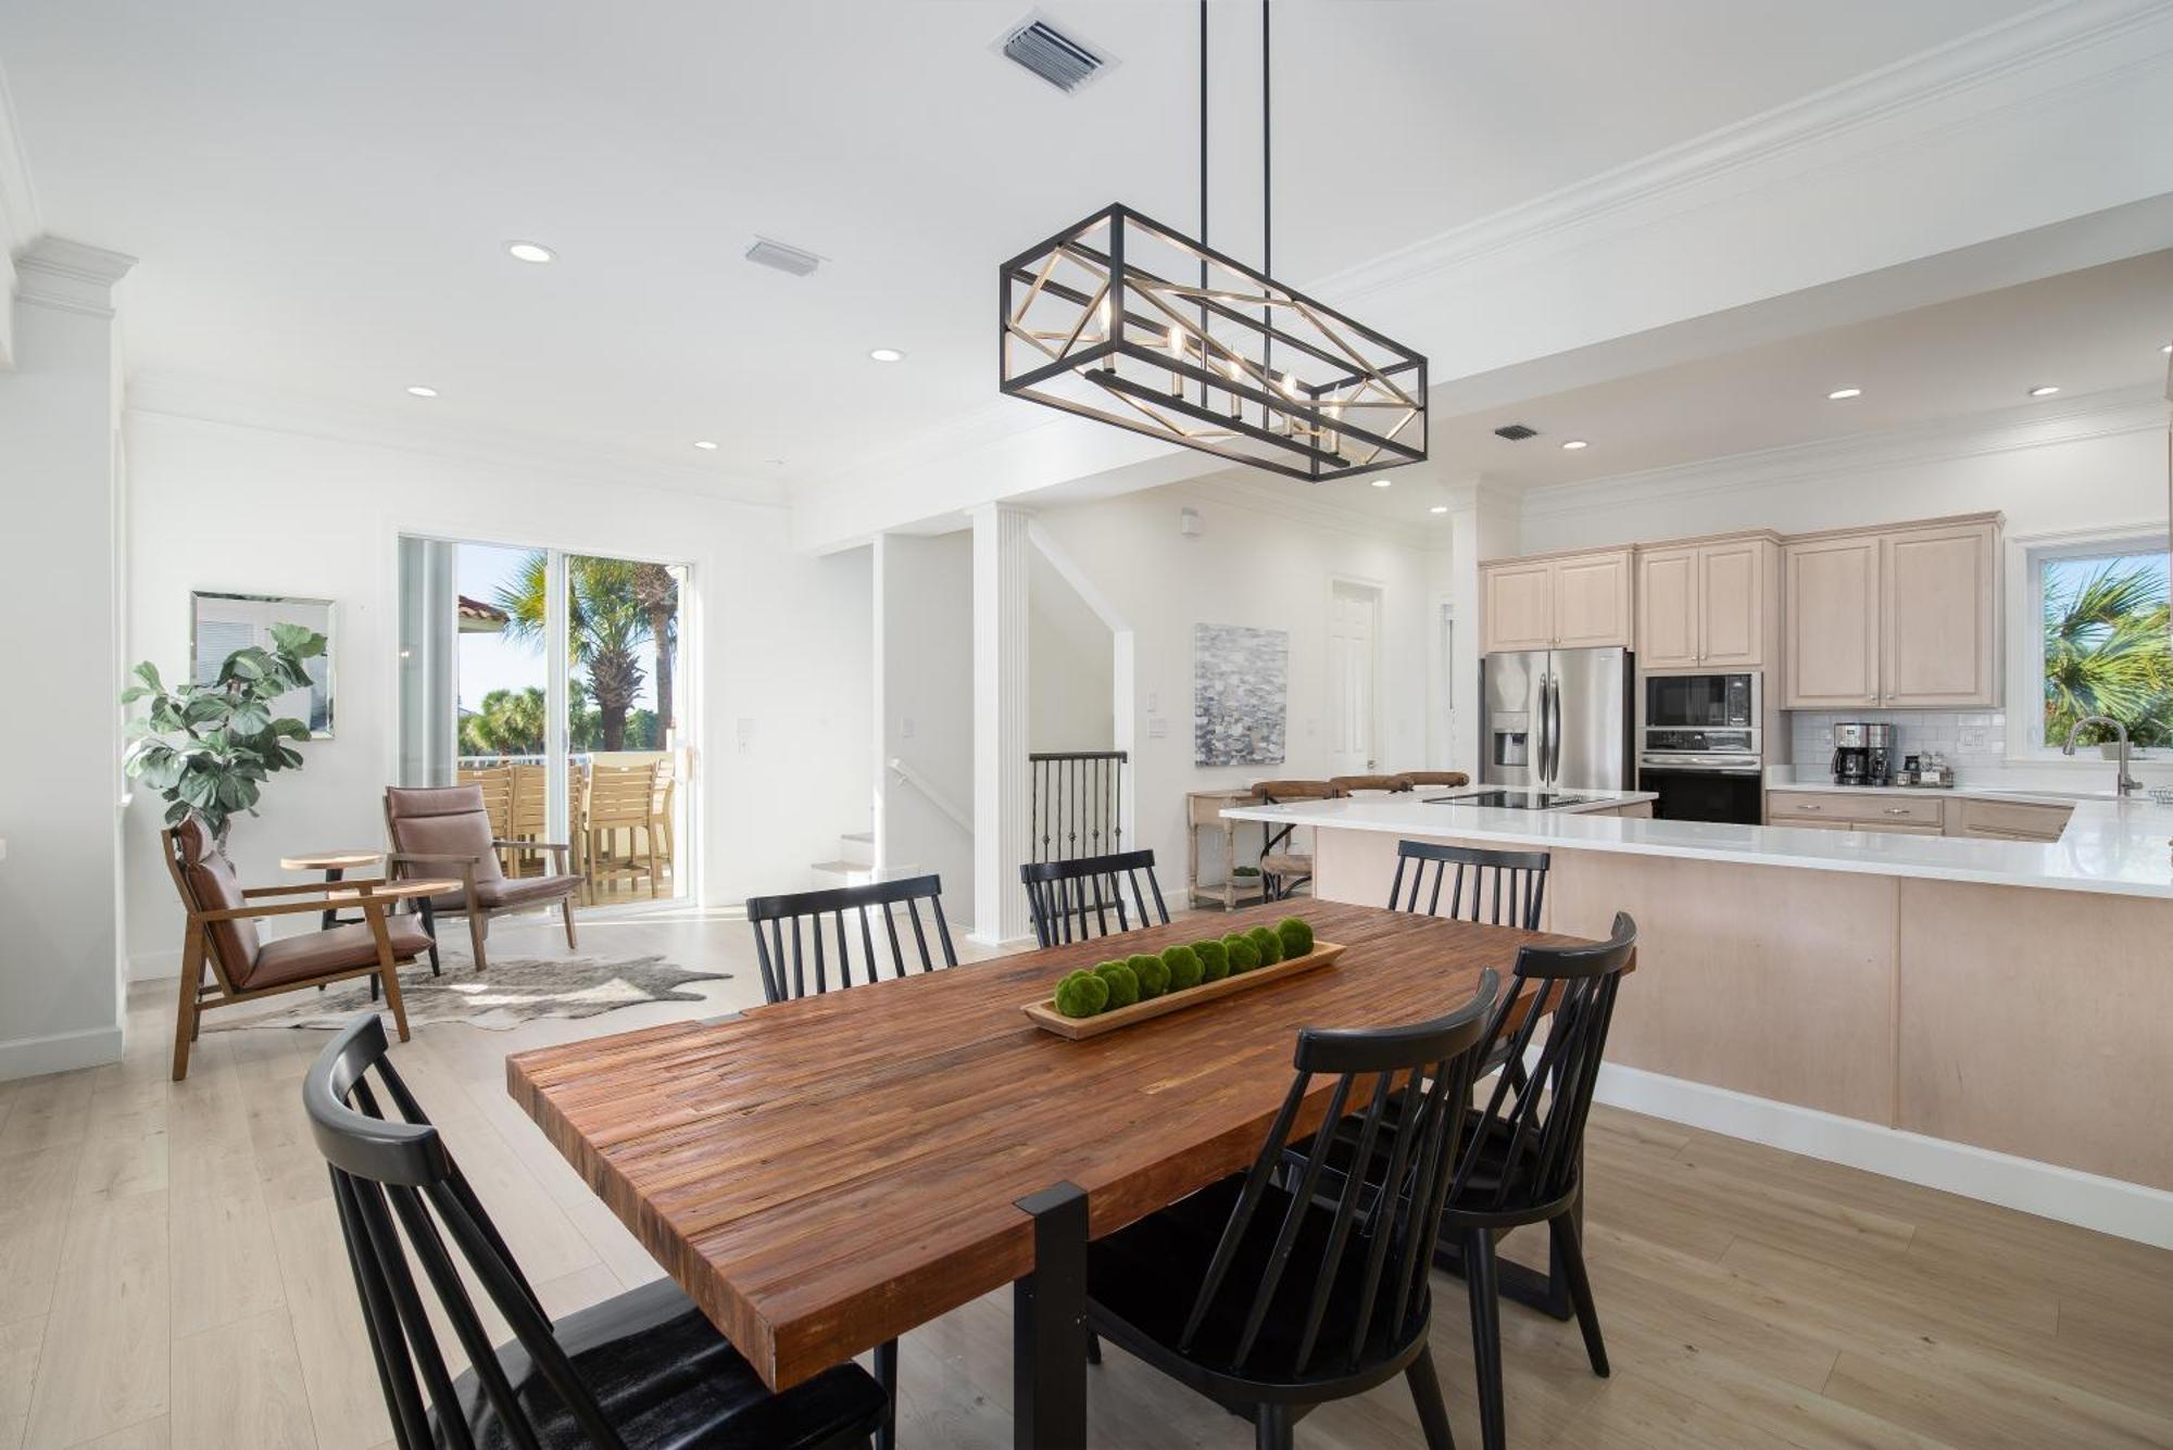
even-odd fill
[(1771, 536), (1638, 549), (1638, 664), (1649, 671), (1764, 664), (1773, 554)]

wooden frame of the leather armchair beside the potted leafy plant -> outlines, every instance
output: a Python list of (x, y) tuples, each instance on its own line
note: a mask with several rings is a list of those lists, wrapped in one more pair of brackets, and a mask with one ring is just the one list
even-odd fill
[[(241, 890), (243, 901), (265, 901), (265, 905), (241, 905), (213, 912), (196, 899), (196, 890), (189, 886), (174, 831), (159, 831), (159, 842), (165, 847), (165, 868), (174, 877), (174, 888), (180, 892), (180, 903), (189, 914), (187, 938), (180, 951), (180, 1003), (174, 1012), (176, 1083), (189, 1077), (189, 1048), (202, 1031), (204, 1012), (213, 1007), (230, 1007), (235, 1003), (254, 1003), (265, 996), (280, 996), (282, 992), (324, 988), (354, 977), (376, 977), (385, 985), (385, 1003), (393, 1009), (393, 1025), (400, 1029), (400, 1040), (409, 1040), (406, 1003), (400, 999), (398, 968), (402, 962), (413, 962), (415, 955), (411, 953), (402, 957), (393, 953), (385, 918), (413, 892), (402, 892), (398, 881), (389, 881), (387, 877), (363, 877), (341, 881), (337, 886), (326, 886), (322, 881), (304, 881), (300, 886), (250, 886)], [(226, 962), (219, 953), (217, 936), (211, 931), (211, 927), (222, 920), (259, 920), (267, 916), (304, 914), (322, 916), (324, 912), (339, 907), (361, 907), (363, 923), (369, 925), (369, 936), (376, 938), (378, 959), (369, 966), (346, 966), (337, 972), (300, 977), (272, 988), (237, 985), (237, 979), (248, 964)], [(204, 981), (204, 966), (211, 968), (209, 983)]]

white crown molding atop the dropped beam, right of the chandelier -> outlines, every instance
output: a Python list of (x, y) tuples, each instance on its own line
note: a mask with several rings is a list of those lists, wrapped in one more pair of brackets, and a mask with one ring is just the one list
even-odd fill
[[(2097, 54), (2088, 54), (2093, 50)], [(1969, 106), (1975, 115), (2006, 111), (2151, 65), (2166, 50), (2173, 50), (2173, 7), (2164, 0), (2053, 0), (1386, 256), (1310, 280), (1306, 289), (1341, 300), (1365, 300), (1497, 256), (1519, 258), (1538, 243), (1584, 241), (1578, 232), (1588, 232), (1588, 239), (1597, 241), (1608, 232), (1606, 224), (1623, 213), (1649, 208), (1738, 171), (1778, 161), (1801, 169), (1799, 152), (1873, 128), (1893, 130), (1891, 137), (1877, 137), (1875, 145), (1895, 145), (1925, 128), (1951, 128), (1956, 117), (1927, 115), (1940, 106)]]

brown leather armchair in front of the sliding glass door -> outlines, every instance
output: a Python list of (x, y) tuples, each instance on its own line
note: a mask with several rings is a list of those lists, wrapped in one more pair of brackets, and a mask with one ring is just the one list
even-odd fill
[[(558, 907), (565, 914), (565, 944), (574, 946), (574, 894), (580, 877), (567, 875), (565, 842), (498, 840), (491, 834), (491, 812), (478, 786), (391, 786), (385, 790), (385, 834), (391, 851), (385, 864), (393, 879), (459, 877), (461, 890), (424, 896), (417, 905), (430, 923), (430, 964), (437, 966), (435, 918), (465, 916), (467, 940), (482, 957), (489, 920), (508, 912)], [(556, 870), (543, 877), (506, 877), (498, 864), (500, 851), (550, 851)]]

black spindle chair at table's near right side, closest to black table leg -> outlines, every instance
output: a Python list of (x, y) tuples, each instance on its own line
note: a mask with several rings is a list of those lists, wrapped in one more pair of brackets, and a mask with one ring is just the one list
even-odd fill
[[(1252, 1170), (1091, 1244), (1086, 1322), (1249, 1417), (1263, 1450), (1289, 1450), (1308, 1411), (1397, 1374), (1428, 1450), (1454, 1450), (1428, 1346), (1430, 1242), (1465, 1159), (1497, 988), (1482, 972), (1471, 1003), (1412, 1027), (1299, 1031), (1297, 1077)], [(1317, 1111), (1323, 1096), (1310, 1150), (1284, 1168), (1308, 1098)], [(1345, 1114), (1356, 1148), (1336, 1133)]]

